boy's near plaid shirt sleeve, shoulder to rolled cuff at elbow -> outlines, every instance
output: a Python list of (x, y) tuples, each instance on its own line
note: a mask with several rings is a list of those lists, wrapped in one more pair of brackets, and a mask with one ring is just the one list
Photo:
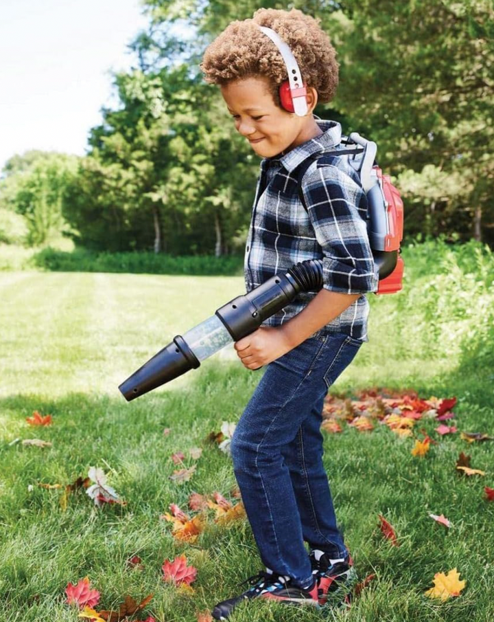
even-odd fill
[(306, 175), (302, 190), (322, 248), (322, 287), (350, 294), (377, 291), (364, 190), (336, 166), (321, 166)]

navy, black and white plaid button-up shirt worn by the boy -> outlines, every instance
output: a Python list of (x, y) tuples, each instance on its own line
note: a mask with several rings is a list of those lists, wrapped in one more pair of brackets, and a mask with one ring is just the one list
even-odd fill
[[(367, 199), (349, 156), (336, 156), (331, 166), (313, 162), (304, 176), (305, 211), (298, 184), (290, 174), (312, 153), (345, 148), (341, 125), (316, 119), (324, 132), (281, 156), (261, 161), (261, 173), (246, 242), (246, 291), (285, 272), (298, 261), (322, 259), (323, 287), (342, 293), (361, 293), (347, 309), (314, 335), (346, 333), (368, 342), (367, 292), (377, 291), (378, 279), (369, 246)], [(290, 304), (263, 322), (279, 326), (300, 313), (317, 292), (301, 292)]]

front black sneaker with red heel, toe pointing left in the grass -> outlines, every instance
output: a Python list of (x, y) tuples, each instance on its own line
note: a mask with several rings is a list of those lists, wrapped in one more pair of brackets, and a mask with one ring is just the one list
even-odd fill
[(244, 585), (247, 582), (251, 584), (251, 587), (246, 592), (217, 603), (211, 612), (215, 620), (226, 620), (238, 603), (256, 597), (280, 601), (286, 605), (310, 605), (317, 609), (319, 608), (317, 581), (314, 581), (314, 585), (309, 590), (303, 590), (295, 586), (290, 577), (283, 577), (282, 575), (275, 575), (274, 573), (267, 573), (261, 570), (257, 575), (248, 577), (240, 585)]

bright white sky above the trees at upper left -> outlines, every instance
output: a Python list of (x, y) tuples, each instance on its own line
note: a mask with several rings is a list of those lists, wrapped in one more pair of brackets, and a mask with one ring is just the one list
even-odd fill
[(143, 30), (139, 0), (1, 0), (0, 170), (30, 149), (84, 155), (110, 69), (129, 69)]

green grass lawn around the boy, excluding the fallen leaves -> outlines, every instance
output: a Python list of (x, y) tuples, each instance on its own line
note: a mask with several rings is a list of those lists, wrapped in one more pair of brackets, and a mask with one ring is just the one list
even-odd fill
[[(419, 300), (425, 281), (409, 268), (408, 285), (415, 276)], [(0, 274), (2, 621), (80, 620), (64, 603), (64, 589), (87, 575), (102, 593), (97, 610), (117, 606), (128, 594), (139, 600), (153, 592), (146, 615), (157, 622), (194, 622), (197, 612), (235, 595), (239, 582), (261, 569), (247, 522), (221, 528), (211, 520), (194, 544), (180, 544), (160, 515), (173, 502), (187, 511), (192, 491), (220, 491), (230, 498), (231, 458), (203, 439), (219, 431), (222, 421), (239, 419), (262, 372), (246, 370), (228, 346), (198, 370), (132, 403), (117, 390), (174, 335), (243, 291), (240, 277)], [(425, 399), (456, 396), (459, 430), (493, 434), (493, 370), (472, 374), (462, 366), (451, 326), (446, 346), (429, 347), (430, 336), (401, 294), (369, 300), (370, 342), (331, 392), (389, 387), (414, 389)], [(25, 417), (34, 410), (51, 414), (53, 424), (27, 425)], [(423, 458), (410, 454), (410, 438), (398, 439), (384, 426), (370, 433), (346, 427), (325, 436), (338, 520), (357, 572), (361, 578), (376, 575), (348, 614), (329, 611), (327, 619), (494, 619), (494, 502), (486, 502), (483, 493), (485, 485), (494, 487), (494, 442), (467, 445), (459, 433), (441, 438), (433, 432), (436, 425), (417, 426), (438, 441)], [(168, 436), (165, 427), (171, 428)], [(53, 446), (10, 444), (16, 438), (41, 438)], [(187, 466), (197, 464), (191, 480), (169, 480), (178, 468), (170, 456), (197, 446), (202, 456), (185, 458)], [(472, 466), (486, 476), (458, 476), (460, 451), (471, 454)], [(97, 508), (79, 491), (64, 511), (60, 490), (36, 485), (66, 485), (85, 477), (91, 466), (104, 469), (125, 507)], [(395, 526), (401, 546), (384, 540), (379, 513)], [(429, 513), (444, 513), (451, 529), (445, 531)], [(164, 560), (181, 553), (198, 568), (193, 595), (180, 594), (162, 579)], [(132, 555), (141, 557), (143, 570), (126, 567)], [(467, 581), (462, 594), (445, 603), (426, 598), (434, 574), (455, 567)], [(231, 617), (320, 619), (320, 612), (259, 601)]]

